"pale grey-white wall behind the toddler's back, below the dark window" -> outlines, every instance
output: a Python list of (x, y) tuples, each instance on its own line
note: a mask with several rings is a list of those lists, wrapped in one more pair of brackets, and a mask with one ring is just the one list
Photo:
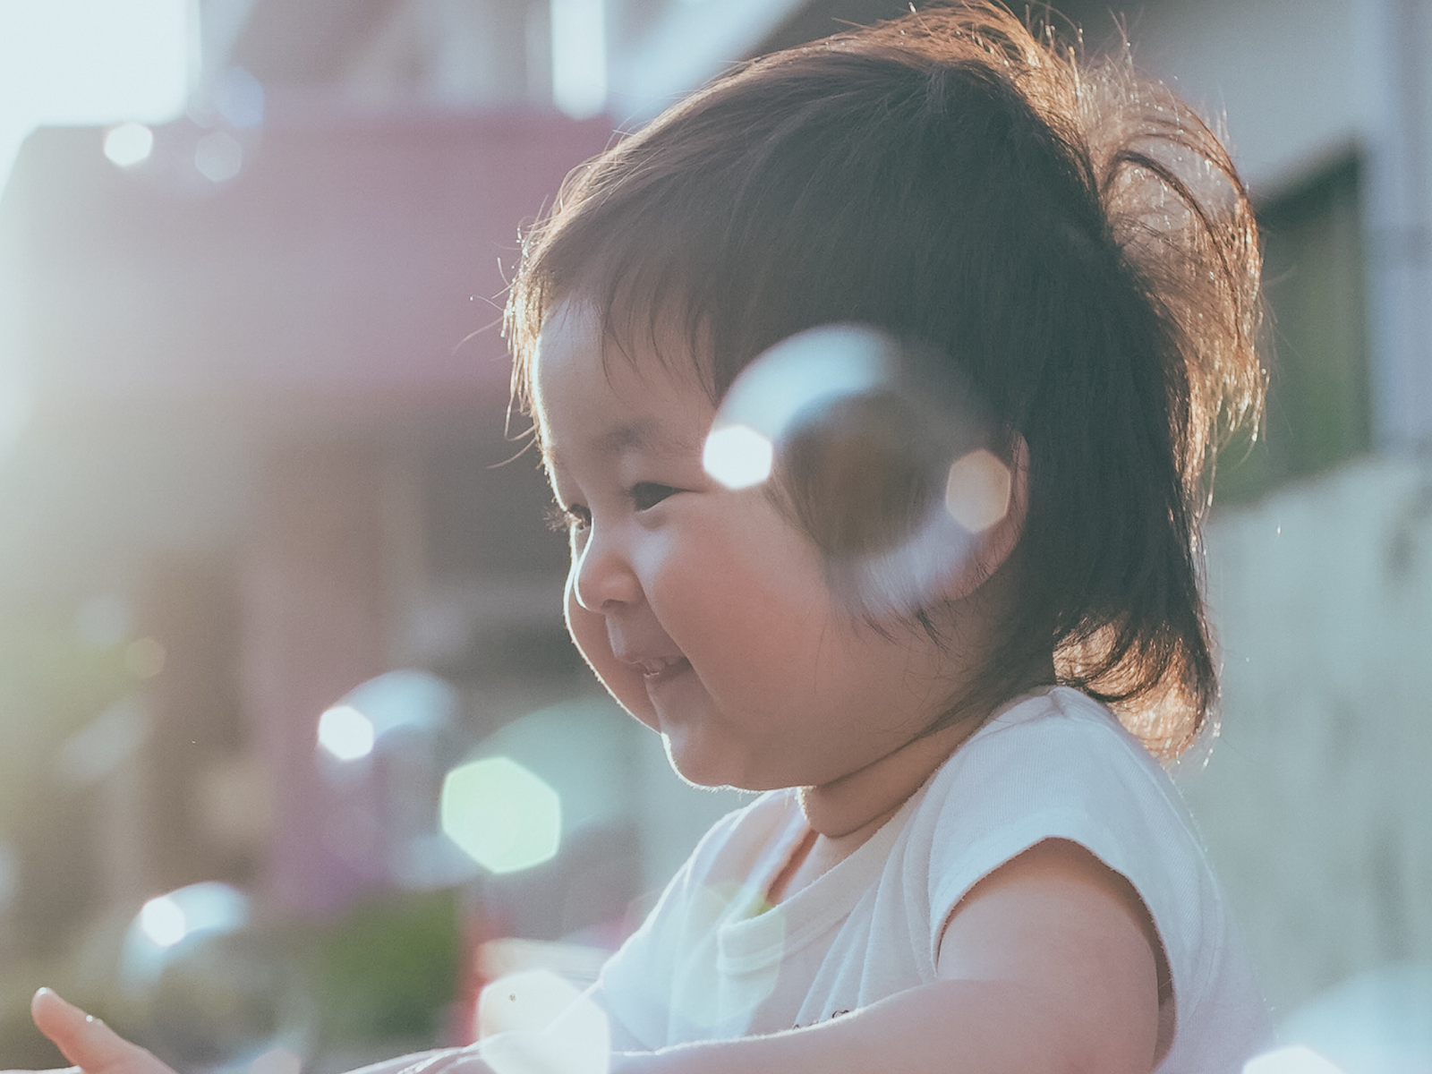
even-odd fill
[(1432, 962), (1432, 464), (1221, 511), (1209, 589), (1223, 735), (1181, 782), (1269, 1000)]

